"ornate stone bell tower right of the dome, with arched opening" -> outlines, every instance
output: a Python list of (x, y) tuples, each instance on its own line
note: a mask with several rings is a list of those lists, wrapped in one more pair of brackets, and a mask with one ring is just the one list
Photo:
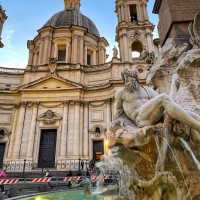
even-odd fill
[(154, 25), (149, 22), (147, 2), (148, 0), (116, 0), (118, 25), (115, 39), (121, 62), (134, 63), (143, 49), (149, 53), (157, 51), (152, 35)]

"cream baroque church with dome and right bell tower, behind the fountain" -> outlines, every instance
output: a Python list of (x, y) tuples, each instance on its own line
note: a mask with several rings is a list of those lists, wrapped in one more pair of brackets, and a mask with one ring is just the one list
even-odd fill
[(149, 59), (142, 52), (159, 54), (147, 0), (116, 1), (119, 52), (113, 48), (110, 62), (109, 44), (80, 12), (80, 0), (64, 5), (27, 42), (26, 69), (0, 68), (0, 165), (7, 171), (21, 171), (25, 161), (26, 170), (78, 170), (79, 159), (98, 160), (121, 71), (136, 69), (145, 83)]

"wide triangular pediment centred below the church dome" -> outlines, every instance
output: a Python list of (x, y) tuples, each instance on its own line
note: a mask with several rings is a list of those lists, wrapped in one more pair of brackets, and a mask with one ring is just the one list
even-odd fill
[(59, 90), (81, 88), (83, 88), (83, 86), (79, 83), (72, 82), (62, 77), (50, 75), (22, 85), (19, 90)]

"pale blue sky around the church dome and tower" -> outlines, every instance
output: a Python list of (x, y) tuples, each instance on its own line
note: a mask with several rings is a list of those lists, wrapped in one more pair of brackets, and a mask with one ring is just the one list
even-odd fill
[[(5, 45), (0, 49), (0, 66), (25, 68), (28, 62), (27, 40), (37, 35), (37, 30), (56, 12), (64, 9), (63, 0), (1, 0), (6, 10), (6, 20), (2, 33)], [(155, 25), (158, 16), (152, 14), (154, 0), (149, 0), (148, 13)], [(106, 8), (105, 8), (106, 5)], [(114, 12), (115, 0), (81, 0), (81, 12), (97, 26), (101, 37), (109, 43), (107, 54), (112, 55), (115, 43), (117, 17)], [(158, 37), (154, 31), (154, 37)]]

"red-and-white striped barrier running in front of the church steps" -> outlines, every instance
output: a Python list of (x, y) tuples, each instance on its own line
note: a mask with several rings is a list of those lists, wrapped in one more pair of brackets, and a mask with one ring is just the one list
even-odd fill
[[(4, 185), (4, 190), (8, 197), (17, 197), (30, 192), (48, 192), (50, 190), (70, 189), (69, 182), (71, 179), (81, 181), (85, 176), (68, 176), (68, 177), (43, 177), (43, 178), (19, 178), (19, 179), (3, 179), (0, 180), (0, 185)], [(100, 176), (92, 175), (90, 180), (92, 187), (96, 186), (96, 182)], [(117, 184), (118, 176), (104, 176), (104, 185)]]

